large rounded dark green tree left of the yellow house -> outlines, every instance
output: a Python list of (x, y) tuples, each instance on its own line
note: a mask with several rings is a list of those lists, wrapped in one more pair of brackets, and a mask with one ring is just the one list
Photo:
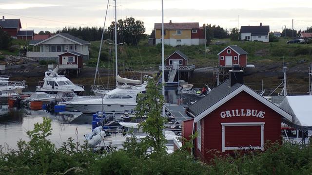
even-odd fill
[[(111, 39), (115, 38), (115, 21), (108, 27)], [(144, 38), (145, 27), (144, 22), (135, 20), (133, 17), (119, 19), (117, 21), (117, 39), (119, 42), (126, 44), (137, 45)]]

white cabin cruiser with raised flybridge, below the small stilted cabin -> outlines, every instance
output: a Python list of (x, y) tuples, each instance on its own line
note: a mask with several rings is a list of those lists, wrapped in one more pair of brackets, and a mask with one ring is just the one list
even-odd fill
[(42, 86), (36, 87), (36, 92), (46, 92), (57, 94), (59, 91), (70, 90), (76, 94), (80, 94), (84, 91), (84, 87), (81, 85), (75, 85), (65, 75), (59, 75), (51, 68), (44, 73), (43, 82), (39, 82)]

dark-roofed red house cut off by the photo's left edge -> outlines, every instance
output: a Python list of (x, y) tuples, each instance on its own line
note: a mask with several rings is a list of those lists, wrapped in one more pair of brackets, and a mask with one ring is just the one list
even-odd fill
[(5, 19), (2, 16), (0, 28), (13, 38), (17, 38), (18, 31), (21, 29), (20, 19)]

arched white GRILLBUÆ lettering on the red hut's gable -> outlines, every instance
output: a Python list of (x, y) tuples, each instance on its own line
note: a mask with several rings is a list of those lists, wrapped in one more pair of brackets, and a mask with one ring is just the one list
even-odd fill
[(254, 109), (233, 109), (220, 112), (220, 116), (223, 119), (228, 117), (239, 117), (239, 116), (253, 116), (264, 118), (264, 114), (265, 112)]

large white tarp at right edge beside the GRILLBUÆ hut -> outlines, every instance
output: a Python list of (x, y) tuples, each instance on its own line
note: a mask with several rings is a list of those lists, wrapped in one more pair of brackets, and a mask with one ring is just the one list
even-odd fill
[(292, 124), (295, 126), (312, 127), (312, 96), (287, 96), (279, 107), (292, 115)]

